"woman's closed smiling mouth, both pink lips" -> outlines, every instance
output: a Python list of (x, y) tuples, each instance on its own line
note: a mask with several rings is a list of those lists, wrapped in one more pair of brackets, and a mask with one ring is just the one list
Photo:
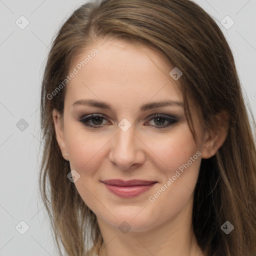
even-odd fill
[(108, 179), (101, 181), (104, 183), (106, 188), (113, 194), (120, 197), (135, 197), (143, 192), (149, 190), (157, 181), (132, 179), (132, 180), (121, 180), (121, 179)]

